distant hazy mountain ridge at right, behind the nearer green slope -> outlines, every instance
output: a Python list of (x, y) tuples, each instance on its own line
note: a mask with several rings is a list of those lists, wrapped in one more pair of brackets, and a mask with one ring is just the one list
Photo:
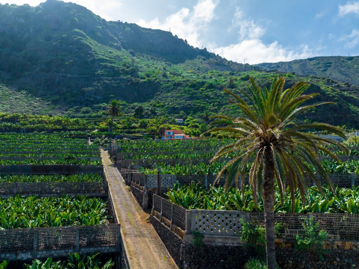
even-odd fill
[(289, 62), (264, 62), (258, 64), (265, 70), (295, 72), (299, 75), (325, 76), (349, 85), (359, 86), (359, 56), (324, 56)]

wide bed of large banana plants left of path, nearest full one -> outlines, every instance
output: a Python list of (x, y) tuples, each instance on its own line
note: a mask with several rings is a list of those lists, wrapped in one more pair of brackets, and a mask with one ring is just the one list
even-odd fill
[(87, 196), (0, 198), (0, 229), (105, 224), (107, 203)]

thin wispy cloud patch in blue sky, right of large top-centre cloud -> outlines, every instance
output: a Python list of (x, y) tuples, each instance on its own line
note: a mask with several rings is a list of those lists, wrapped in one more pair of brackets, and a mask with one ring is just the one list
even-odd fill
[(259, 38), (266, 31), (265, 28), (255, 24), (253, 20), (244, 19), (244, 14), (239, 6), (236, 6), (236, 10), (234, 11), (234, 17), (232, 19), (232, 26), (230, 29), (233, 28), (239, 28), (238, 33), (241, 40), (246, 38)]

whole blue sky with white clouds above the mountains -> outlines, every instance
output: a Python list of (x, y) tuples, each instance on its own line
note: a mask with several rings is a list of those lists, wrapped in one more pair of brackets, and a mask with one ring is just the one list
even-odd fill
[[(44, 0), (0, 0), (36, 6)], [(69, 2), (69, 1), (65, 1)], [(72, 0), (240, 63), (359, 55), (359, 0)]]

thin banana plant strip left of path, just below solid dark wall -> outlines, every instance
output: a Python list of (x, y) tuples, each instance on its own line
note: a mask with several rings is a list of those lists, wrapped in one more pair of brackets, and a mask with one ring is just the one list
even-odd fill
[(73, 175), (0, 175), (0, 182), (98, 182), (102, 181), (100, 174)]

